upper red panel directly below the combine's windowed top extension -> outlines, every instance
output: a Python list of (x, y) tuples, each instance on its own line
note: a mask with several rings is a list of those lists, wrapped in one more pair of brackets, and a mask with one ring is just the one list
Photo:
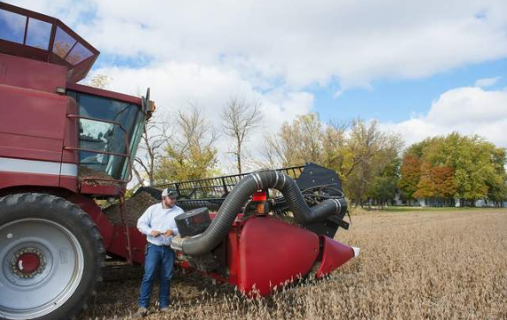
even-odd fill
[(0, 84), (49, 93), (55, 93), (57, 87), (65, 88), (65, 66), (0, 53), (0, 69), (4, 70)]

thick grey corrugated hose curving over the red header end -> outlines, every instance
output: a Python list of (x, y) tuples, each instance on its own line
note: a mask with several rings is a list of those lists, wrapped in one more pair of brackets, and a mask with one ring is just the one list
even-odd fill
[(216, 248), (229, 232), (234, 219), (254, 192), (265, 188), (277, 189), (287, 200), (288, 208), (301, 224), (311, 224), (339, 215), (347, 210), (344, 198), (328, 199), (318, 205), (308, 207), (296, 182), (279, 171), (257, 171), (243, 178), (227, 195), (220, 206), (217, 217), (203, 233), (189, 239), (173, 239), (171, 247), (182, 250), (187, 255), (203, 255)]

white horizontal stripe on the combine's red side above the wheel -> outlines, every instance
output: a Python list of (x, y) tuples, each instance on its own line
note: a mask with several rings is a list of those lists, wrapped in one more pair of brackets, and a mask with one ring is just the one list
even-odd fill
[[(0, 157), (0, 171), (77, 177), (77, 164)], [(60, 173), (61, 172), (61, 173)]]

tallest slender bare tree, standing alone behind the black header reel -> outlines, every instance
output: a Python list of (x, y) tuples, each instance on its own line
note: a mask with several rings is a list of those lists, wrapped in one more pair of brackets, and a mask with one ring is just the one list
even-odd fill
[(231, 153), (235, 157), (238, 173), (242, 173), (244, 143), (263, 120), (259, 107), (259, 103), (249, 103), (244, 98), (236, 97), (231, 98), (222, 110), (222, 127), (227, 137), (234, 141)]

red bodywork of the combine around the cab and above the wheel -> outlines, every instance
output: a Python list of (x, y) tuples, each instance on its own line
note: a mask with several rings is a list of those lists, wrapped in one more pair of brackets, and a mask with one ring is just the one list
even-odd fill
[[(67, 68), (0, 53), (0, 196), (21, 192), (55, 194), (78, 204), (99, 227), (111, 254), (142, 263), (146, 240), (125, 226), (113, 226), (87, 195), (118, 197), (125, 184), (103, 186), (79, 180), (79, 106), (57, 88), (132, 103), (141, 98), (68, 82)], [(129, 249), (127, 249), (129, 248)], [(132, 255), (132, 256), (131, 256)], [(140, 255), (136, 259), (136, 256)]]

